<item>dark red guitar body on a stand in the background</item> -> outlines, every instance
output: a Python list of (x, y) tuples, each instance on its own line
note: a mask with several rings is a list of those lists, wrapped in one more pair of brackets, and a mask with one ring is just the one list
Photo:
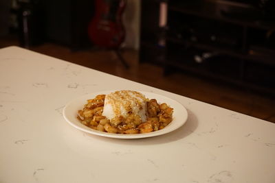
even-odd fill
[(96, 0), (94, 19), (89, 24), (91, 41), (99, 47), (118, 49), (125, 38), (122, 14), (126, 0)]

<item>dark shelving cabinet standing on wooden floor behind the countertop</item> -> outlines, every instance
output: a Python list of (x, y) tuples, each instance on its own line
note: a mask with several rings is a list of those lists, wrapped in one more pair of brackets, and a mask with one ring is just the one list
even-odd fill
[[(232, 3), (167, 3), (165, 34), (157, 25), (153, 29), (155, 37), (148, 36), (153, 35), (150, 32), (142, 36), (145, 31), (141, 29), (141, 60), (164, 66), (164, 73), (179, 70), (275, 94), (275, 19), (263, 17), (256, 8)], [(153, 14), (158, 13), (156, 10)], [(148, 21), (146, 17), (142, 16), (141, 25)], [(163, 36), (166, 44), (161, 47), (157, 42)]]

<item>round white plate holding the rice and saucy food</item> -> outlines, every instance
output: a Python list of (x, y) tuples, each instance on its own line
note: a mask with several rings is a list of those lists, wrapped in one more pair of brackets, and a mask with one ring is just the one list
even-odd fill
[(165, 97), (163, 95), (158, 95), (156, 93), (148, 93), (143, 91), (140, 91), (140, 93), (143, 93), (146, 98), (157, 99), (158, 103), (167, 103), (168, 106), (174, 109), (173, 121), (169, 125), (164, 127), (164, 129), (158, 130), (155, 132), (149, 132), (146, 134), (111, 134), (107, 132), (100, 132), (98, 130), (93, 130), (90, 127), (87, 127), (82, 123), (80, 123), (80, 121), (78, 121), (78, 119), (76, 118), (77, 112), (78, 110), (83, 109), (83, 106), (85, 105), (85, 103), (87, 103), (87, 99), (93, 99), (94, 97), (96, 97), (96, 95), (109, 94), (111, 92), (113, 91), (109, 90), (109, 91), (102, 91), (98, 93), (91, 93), (91, 94), (83, 95), (82, 97), (78, 97), (73, 101), (70, 101), (69, 103), (67, 103), (67, 105), (63, 110), (63, 117), (70, 125), (72, 125), (73, 127), (76, 127), (78, 130), (82, 130), (83, 132), (87, 132), (89, 134), (95, 134), (98, 136), (106, 136), (109, 138), (127, 138), (127, 139), (146, 138), (151, 136), (159, 136), (162, 134), (167, 134), (169, 132), (173, 132), (174, 130), (177, 130), (179, 127), (184, 125), (184, 123), (186, 123), (188, 114), (187, 114), (186, 108), (184, 108), (184, 106), (182, 106), (181, 103), (173, 99), (170, 99), (168, 97)]

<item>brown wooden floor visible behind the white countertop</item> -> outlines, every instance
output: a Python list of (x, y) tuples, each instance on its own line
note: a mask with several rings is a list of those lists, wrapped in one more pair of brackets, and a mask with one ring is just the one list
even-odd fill
[[(17, 40), (0, 38), (0, 48), (10, 45), (18, 45)], [(130, 65), (130, 69), (127, 70), (112, 51), (93, 49), (72, 51), (68, 47), (53, 43), (45, 43), (30, 49), (275, 123), (275, 99), (273, 97), (186, 73), (173, 73), (164, 77), (161, 67), (148, 63), (140, 64), (137, 51), (123, 51), (122, 55)]]

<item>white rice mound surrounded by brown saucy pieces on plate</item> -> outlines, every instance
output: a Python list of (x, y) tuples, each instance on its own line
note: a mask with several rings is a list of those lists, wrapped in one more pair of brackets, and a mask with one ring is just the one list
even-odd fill
[(143, 134), (162, 130), (172, 120), (173, 108), (142, 93), (120, 90), (88, 99), (78, 120), (100, 132)]

